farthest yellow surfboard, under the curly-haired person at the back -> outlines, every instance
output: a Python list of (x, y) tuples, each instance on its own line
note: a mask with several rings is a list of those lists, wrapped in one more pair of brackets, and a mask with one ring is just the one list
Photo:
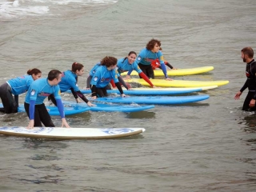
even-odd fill
[[(178, 69), (178, 70), (167, 70), (167, 75), (168, 76), (178, 76), (178, 75), (190, 75), (190, 74), (202, 74), (202, 73), (206, 73), (210, 70), (214, 70), (213, 66), (202, 66), (202, 67), (196, 67), (196, 68), (191, 68), (191, 69)], [(123, 72), (122, 75), (126, 75), (127, 72)], [(133, 70), (133, 72), (131, 72), (130, 75), (137, 75), (138, 73), (136, 70)], [(154, 76), (158, 77), (158, 76), (164, 76), (164, 74), (162, 73), (162, 70), (158, 69), (158, 70), (154, 70)]]

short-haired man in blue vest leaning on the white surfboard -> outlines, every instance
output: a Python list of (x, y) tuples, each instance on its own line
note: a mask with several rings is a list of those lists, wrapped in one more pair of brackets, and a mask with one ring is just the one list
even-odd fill
[(50, 114), (43, 103), (45, 98), (47, 98), (50, 94), (54, 94), (56, 99), (58, 111), (62, 117), (62, 126), (70, 127), (66, 122), (62, 98), (60, 96), (60, 89), (58, 86), (58, 82), (61, 80), (61, 71), (50, 70), (48, 78), (39, 78), (38, 80), (32, 82), (29, 90), (26, 93), (24, 102), (26, 114), (30, 118), (30, 123), (27, 126), (28, 129), (33, 129), (34, 126), (42, 126), (42, 123), (46, 127), (54, 127)]

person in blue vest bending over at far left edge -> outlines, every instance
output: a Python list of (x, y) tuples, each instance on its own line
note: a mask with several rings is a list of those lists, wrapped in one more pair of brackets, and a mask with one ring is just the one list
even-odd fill
[[(42, 72), (37, 68), (28, 70), (27, 75), (12, 78), (0, 86), (0, 97), (3, 107), (0, 111), (5, 114), (18, 112), (18, 95), (25, 93), (32, 82), (41, 78)], [(13, 96), (14, 95), (14, 96)]]

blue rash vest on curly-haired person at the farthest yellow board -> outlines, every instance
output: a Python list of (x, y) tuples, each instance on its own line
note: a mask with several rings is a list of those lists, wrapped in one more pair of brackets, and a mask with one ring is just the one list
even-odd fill
[[(160, 61), (163, 74), (165, 74), (165, 77), (168, 78), (168, 76), (166, 74), (165, 61), (163, 59), (163, 55), (160, 50), (158, 51), (158, 53), (153, 53), (151, 50), (147, 50), (146, 48), (144, 48), (138, 54), (138, 57), (136, 58), (134, 63), (137, 65), (138, 65), (138, 63), (141, 63), (142, 65), (151, 65), (151, 62), (153, 62), (157, 58)], [(130, 75), (130, 73), (131, 73), (131, 70), (129, 70), (128, 74)]]

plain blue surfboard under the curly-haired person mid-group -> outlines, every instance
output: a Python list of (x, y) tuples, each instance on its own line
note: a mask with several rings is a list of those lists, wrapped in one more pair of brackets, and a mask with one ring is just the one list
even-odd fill
[(210, 98), (209, 95), (194, 95), (194, 96), (145, 96), (145, 97), (112, 97), (112, 98), (97, 98), (93, 101), (97, 102), (114, 102), (114, 103), (137, 103), (137, 104), (151, 104), (151, 105), (174, 105), (189, 102), (200, 102)]

